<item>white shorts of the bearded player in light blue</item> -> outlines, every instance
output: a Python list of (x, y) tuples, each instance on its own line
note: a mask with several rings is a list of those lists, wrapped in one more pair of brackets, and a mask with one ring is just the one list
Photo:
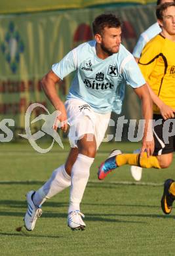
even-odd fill
[[(71, 148), (77, 147), (77, 141), (85, 134), (93, 134), (96, 139), (96, 149), (104, 139), (111, 113), (99, 114), (94, 112), (87, 102), (78, 99), (66, 100), (68, 114), (69, 142)], [(88, 140), (92, 140), (89, 137)]]

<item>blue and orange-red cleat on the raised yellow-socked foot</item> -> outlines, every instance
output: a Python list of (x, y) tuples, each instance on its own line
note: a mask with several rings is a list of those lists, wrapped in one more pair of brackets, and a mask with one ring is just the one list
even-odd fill
[(116, 156), (122, 154), (121, 150), (113, 150), (104, 163), (101, 163), (98, 169), (98, 179), (103, 180), (108, 173), (117, 168)]

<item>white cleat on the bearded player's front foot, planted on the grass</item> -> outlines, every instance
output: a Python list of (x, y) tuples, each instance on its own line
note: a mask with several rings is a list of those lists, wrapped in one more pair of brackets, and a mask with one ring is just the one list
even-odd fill
[(68, 226), (71, 228), (71, 230), (84, 230), (86, 227), (86, 224), (81, 219), (81, 217), (85, 218), (85, 215), (81, 213), (80, 211), (71, 211), (68, 214)]

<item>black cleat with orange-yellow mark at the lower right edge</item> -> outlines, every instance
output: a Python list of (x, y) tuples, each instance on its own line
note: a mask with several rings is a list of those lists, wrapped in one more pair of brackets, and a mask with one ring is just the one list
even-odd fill
[(165, 214), (170, 214), (172, 211), (172, 203), (175, 200), (175, 196), (170, 194), (170, 185), (174, 182), (172, 179), (167, 179), (164, 183), (163, 197), (161, 199), (161, 208)]

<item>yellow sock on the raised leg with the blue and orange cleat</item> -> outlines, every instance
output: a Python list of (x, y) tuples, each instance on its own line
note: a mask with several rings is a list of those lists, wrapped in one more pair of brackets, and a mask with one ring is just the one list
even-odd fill
[(140, 158), (140, 154), (121, 154), (116, 157), (118, 166), (121, 165), (136, 165), (144, 168), (157, 168), (160, 169), (159, 161), (155, 156), (147, 158), (146, 152)]

